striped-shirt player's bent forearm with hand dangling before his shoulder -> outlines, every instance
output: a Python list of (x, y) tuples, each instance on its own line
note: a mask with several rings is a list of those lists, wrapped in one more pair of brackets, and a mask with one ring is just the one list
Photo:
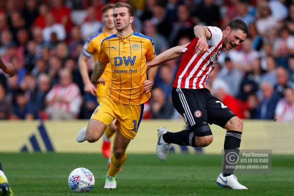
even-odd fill
[(203, 54), (208, 52), (207, 39), (211, 38), (211, 33), (204, 26), (196, 25), (194, 26), (194, 34), (198, 38), (198, 42), (195, 47), (196, 54)]

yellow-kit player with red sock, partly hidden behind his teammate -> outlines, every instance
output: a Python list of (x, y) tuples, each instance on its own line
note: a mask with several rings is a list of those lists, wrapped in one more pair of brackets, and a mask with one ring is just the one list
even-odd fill
[[(107, 64), (103, 74), (101, 75), (101, 78), (104, 79), (104, 82), (101, 82), (97, 84), (97, 87), (95, 87), (94, 84), (91, 83), (88, 69), (87, 69), (87, 61), (88, 59), (93, 55), (95, 62), (98, 60), (98, 55), (100, 52), (100, 46), (103, 39), (106, 37), (115, 34), (116, 29), (114, 27), (113, 23), (113, 8), (114, 4), (109, 3), (106, 4), (101, 12), (102, 12), (102, 23), (104, 24), (104, 27), (98, 31), (95, 35), (91, 36), (85, 43), (82, 52), (79, 55), (78, 64), (80, 73), (83, 78), (84, 82), (84, 91), (86, 93), (91, 93), (92, 95), (97, 95), (97, 102), (99, 103), (104, 95), (104, 91), (109, 85), (110, 78), (111, 78), (111, 65), (110, 63)], [(84, 127), (86, 129), (86, 127)], [(111, 136), (116, 132), (116, 126), (113, 123), (109, 124), (109, 126), (106, 128), (105, 133), (103, 135), (103, 143), (102, 143), (102, 154), (105, 156), (105, 158), (108, 159), (108, 162), (110, 163), (110, 155), (111, 155)], [(108, 164), (109, 166), (109, 164)]]

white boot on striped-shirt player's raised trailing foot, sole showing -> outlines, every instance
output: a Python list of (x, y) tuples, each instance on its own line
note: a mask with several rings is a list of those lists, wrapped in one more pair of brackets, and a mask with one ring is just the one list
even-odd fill
[(158, 141), (156, 145), (156, 154), (161, 161), (165, 161), (168, 158), (170, 144), (166, 143), (163, 140), (162, 135), (169, 132), (169, 130), (166, 127), (161, 127), (157, 129), (157, 131), (158, 131)]

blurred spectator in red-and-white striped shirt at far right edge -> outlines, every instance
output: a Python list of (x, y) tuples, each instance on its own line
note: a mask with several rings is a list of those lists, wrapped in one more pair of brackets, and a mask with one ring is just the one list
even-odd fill
[(285, 89), (285, 98), (281, 98), (275, 108), (275, 118), (280, 122), (294, 122), (294, 90)]

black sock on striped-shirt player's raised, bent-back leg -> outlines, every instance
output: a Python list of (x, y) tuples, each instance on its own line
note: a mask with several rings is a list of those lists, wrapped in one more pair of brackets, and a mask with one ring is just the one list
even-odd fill
[(183, 130), (175, 133), (168, 132), (163, 134), (162, 138), (166, 143), (169, 144), (196, 147), (195, 133), (190, 130)]

